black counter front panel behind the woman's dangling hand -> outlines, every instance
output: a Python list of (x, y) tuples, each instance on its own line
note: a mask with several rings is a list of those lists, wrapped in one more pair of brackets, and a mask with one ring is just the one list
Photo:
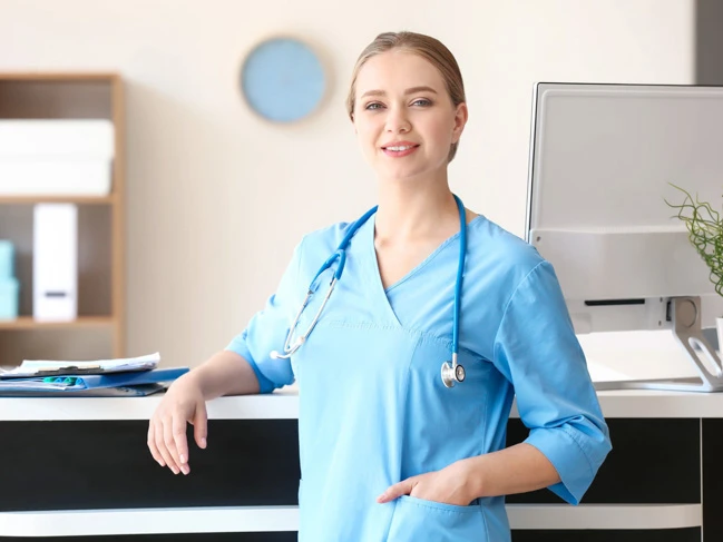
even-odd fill
[[(82, 400), (79, 400), (82, 401)], [(162, 469), (148, 423), (0, 422), (0, 512), (297, 504), (296, 420), (212, 420), (190, 474)]]

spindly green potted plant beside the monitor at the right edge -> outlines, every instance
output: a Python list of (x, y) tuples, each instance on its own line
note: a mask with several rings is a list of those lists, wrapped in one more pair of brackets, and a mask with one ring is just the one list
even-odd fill
[[(685, 223), (691, 244), (707, 265), (709, 277), (715, 286), (715, 292), (723, 296), (723, 220), (721, 220), (721, 215), (711, 207), (711, 204), (701, 201), (697, 195), (693, 198), (680, 186), (672, 183), (671, 186), (681, 190), (685, 195), (685, 199), (680, 205), (671, 204), (667, 199), (665, 203), (677, 209), (677, 218)], [(715, 328), (719, 351), (723, 351), (723, 317), (715, 318)]]

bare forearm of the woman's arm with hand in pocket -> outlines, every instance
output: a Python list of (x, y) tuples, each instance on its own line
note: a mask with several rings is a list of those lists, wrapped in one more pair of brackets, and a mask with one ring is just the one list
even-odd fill
[(476, 497), (526, 493), (560, 481), (549, 460), (526, 443), (459, 463), (465, 470), (469, 491)]

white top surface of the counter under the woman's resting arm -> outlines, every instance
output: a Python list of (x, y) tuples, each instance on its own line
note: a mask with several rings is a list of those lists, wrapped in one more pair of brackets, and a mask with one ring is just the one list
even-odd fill
[[(605, 417), (723, 417), (723, 393), (598, 392)], [(162, 400), (149, 397), (0, 398), (0, 421), (148, 420)], [(512, 417), (517, 410), (512, 407)], [(295, 387), (268, 395), (219, 397), (208, 403), (212, 420), (299, 417)]]

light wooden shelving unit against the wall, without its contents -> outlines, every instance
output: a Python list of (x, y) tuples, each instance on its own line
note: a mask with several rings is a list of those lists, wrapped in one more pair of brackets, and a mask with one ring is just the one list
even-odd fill
[[(125, 356), (125, 108), (121, 78), (110, 72), (0, 73), (0, 118), (105, 118), (115, 127), (109, 195), (0, 195), (0, 238), (9, 238), (16, 244), (16, 276), (21, 284), (20, 317), (0, 321), (0, 365), (12, 365), (22, 358)], [(39, 203), (78, 205), (78, 318), (74, 322), (42, 323), (32, 318), (32, 206)], [(99, 339), (97, 334), (105, 335)]]

